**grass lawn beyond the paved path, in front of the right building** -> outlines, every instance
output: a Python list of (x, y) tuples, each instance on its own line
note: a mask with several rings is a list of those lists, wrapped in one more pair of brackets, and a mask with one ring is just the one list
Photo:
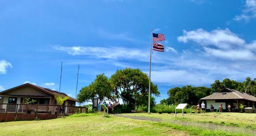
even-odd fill
[[(165, 121), (175, 120), (175, 114), (159, 114), (159, 113), (128, 113), (129, 116), (144, 116), (149, 118), (160, 118)], [(254, 113), (201, 113), (201, 114), (177, 114), (177, 120), (189, 121), (189, 122), (204, 122), (213, 123), (219, 125), (236, 126), (236, 127), (250, 127), (256, 129), (256, 114)]]

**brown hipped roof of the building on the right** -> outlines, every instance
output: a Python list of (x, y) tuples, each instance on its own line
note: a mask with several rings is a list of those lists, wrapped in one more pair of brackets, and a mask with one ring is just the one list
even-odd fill
[(202, 100), (212, 100), (212, 99), (246, 99), (249, 101), (256, 102), (256, 97), (250, 94), (246, 94), (246, 93), (239, 92), (229, 88), (224, 88), (215, 94), (202, 98)]

